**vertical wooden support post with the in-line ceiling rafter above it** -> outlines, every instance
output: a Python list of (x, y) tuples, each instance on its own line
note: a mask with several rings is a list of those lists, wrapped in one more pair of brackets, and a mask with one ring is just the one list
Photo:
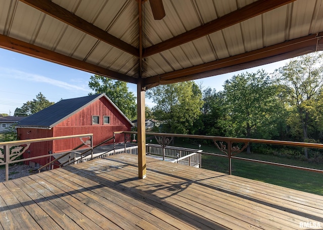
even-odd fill
[(139, 12), (139, 78), (137, 82), (137, 138), (138, 138), (138, 177), (146, 178), (146, 112), (145, 91), (142, 88), (142, 4), (138, 1)]

